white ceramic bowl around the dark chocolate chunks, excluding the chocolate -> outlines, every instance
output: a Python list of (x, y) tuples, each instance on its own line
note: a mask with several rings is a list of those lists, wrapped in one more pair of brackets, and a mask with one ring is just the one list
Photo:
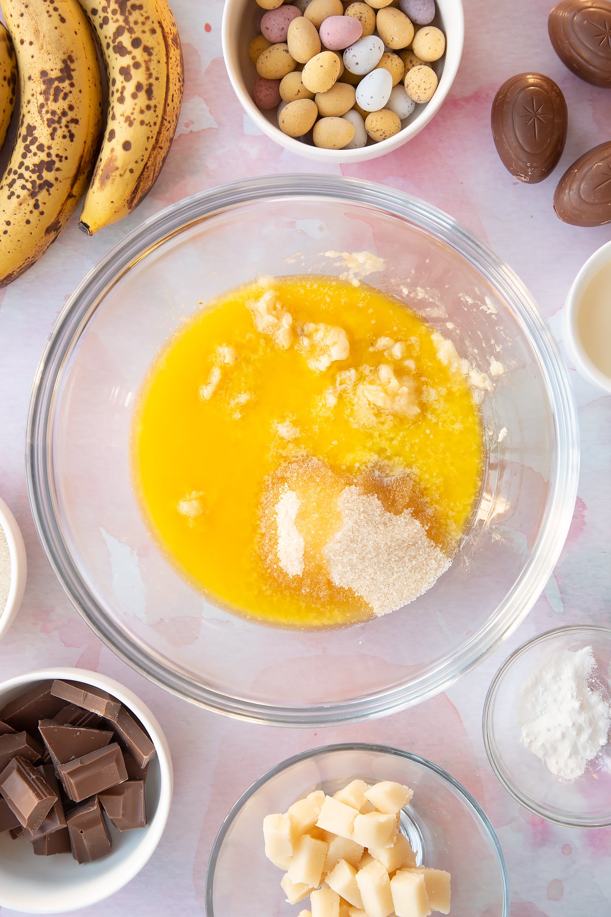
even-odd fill
[(41, 681), (71, 679), (111, 693), (135, 714), (157, 749), (147, 774), (147, 827), (119, 832), (102, 859), (79, 865), (69, 854), (35, 856), (22, 838), (0, 834), (0, 907), (33, 914), (57, 914), (89, 907), (122, 889), (145, 866), (168, 821), (173, 775), (169, 746), (157, 720), (136, 694), (114, 679), (82, 668), (45, 668), (0, 684), (0, 709)]

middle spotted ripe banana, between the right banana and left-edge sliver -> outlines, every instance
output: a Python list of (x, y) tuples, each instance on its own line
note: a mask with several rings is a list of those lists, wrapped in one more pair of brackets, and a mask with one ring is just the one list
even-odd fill
[(0, 0), (19, 89), (15, 147), (0, 182), (0, 286), (60, 234), (92, 176), (103, 128), (95, 42), (77, 0)]

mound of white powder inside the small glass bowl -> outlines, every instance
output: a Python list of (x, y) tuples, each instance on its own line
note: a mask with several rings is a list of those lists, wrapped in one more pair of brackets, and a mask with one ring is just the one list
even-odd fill
[(606, 746), (611, 703), (602, 686), (595, 687), (595, 668), (592, 646), (563, 649), (524, 685), (520, 742), (558, 777), (580, 777)]

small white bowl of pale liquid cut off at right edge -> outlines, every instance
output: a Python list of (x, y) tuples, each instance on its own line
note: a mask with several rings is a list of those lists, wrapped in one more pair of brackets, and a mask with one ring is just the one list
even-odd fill
[(564, 304), (564, 340), (577, 371), (611, 394), (611, 242), (573, 281)]

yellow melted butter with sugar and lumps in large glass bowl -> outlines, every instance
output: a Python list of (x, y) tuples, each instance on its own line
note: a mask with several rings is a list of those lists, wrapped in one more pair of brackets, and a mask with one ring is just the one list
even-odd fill
[(148, 525), (194, 586), (262, 622), (397, 610), (449, 567), (479, 496), (470, 374), (363, 284), (261, 278), (227, 293), (169, 340), (140, 392)]

